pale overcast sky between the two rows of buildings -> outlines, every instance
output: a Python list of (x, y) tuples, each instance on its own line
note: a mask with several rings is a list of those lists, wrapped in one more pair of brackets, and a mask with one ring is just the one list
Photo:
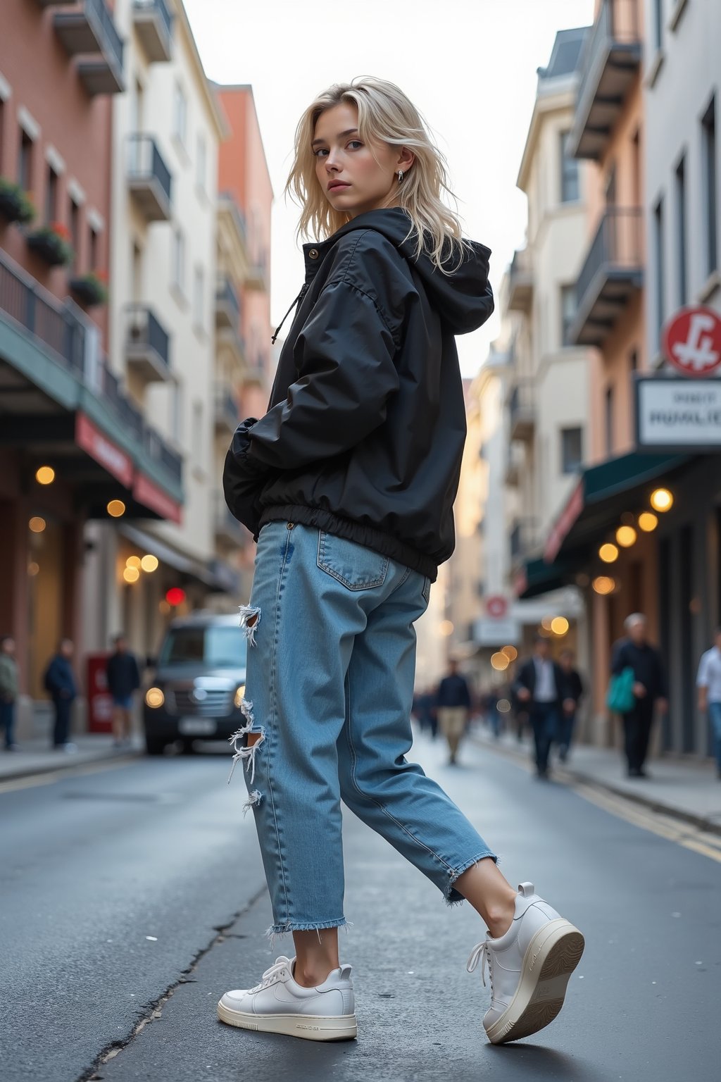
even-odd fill
[[(297, 211), (282, 190), (298, 117), (320, 90), (353, 76), (390, 79), (424, 114), (449, 159), (464, 232), (493, 249), (497, 288), (523, 245), (516, 187), (536, 68), (557, 30), (592, 21), (593, 0), (185, 0), (206, 75), (251, 83), (276, 194), (271, 318), (303, 282)], [(497, 315), (458, 340), (472, 375)]]

